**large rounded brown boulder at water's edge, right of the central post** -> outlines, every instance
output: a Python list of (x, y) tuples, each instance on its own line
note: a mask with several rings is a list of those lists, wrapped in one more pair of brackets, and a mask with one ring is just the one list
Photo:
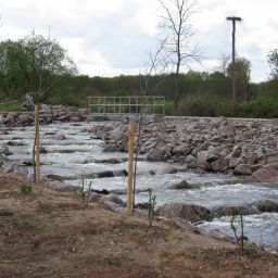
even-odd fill
[(207, 220), (211, 218), (210, 211), (201, 205), (170, 203), (157, 208), (159, 216), (166, 218), (182, 218), (190, 222)]

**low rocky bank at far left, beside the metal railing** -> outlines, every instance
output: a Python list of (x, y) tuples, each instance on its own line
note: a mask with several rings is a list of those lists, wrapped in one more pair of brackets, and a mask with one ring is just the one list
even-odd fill
[[(62, 105), (40, 105), (40, 123), (80, 122), (87, 119), (87, 109)], [(0, 115), (0, 124), (4, 126), (27, 126), (34, 123), (33, 111), (7, 112)]]

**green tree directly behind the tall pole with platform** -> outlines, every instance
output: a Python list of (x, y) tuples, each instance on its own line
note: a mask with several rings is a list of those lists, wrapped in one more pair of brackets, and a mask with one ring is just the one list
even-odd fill
[[(250, 74), (251, 62), (245, 58), (237, 58), (235, 62), (235, 75), (236, 75), (236, 100), (247, 102), (251, 98), (250, 93)], [(232, 78), (232, 63), (227, 66), (227, 76)]]

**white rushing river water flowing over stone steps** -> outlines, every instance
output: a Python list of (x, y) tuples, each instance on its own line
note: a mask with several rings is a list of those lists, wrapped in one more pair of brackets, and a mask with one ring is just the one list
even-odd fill
[[(127, 153), (103, 152), (102, 140), (96, 139), (87, 128), (92, 125), (103, 123), (80, 123), (80, 124), (53, 124), (42, 126), (40, 129), (41, 146), (47, 150), (41, 154), (42, 175), (55, 174), (62, 176), (66, 182), (80, 185), (80, 176), (93, 176), (93, 174), (104, 170), (127, 169)], [(64, 140), (58, 137), (64, 135)], [(2, 135), (1, 143), (9, 141), (18, 146), (9, 146), (13, 152), (10, 159), (21, 165), (31, 161), (34, 142), (34, 127), (11, 128), (8, 135)], [(117, 159), (119, 163), (100, 163), (101, 160)], [(33, 167), (25, 166), (31, 174)], [(175, 174), (163, 174), (168, 167), (178, 169)], [(157, 173), (151, 175), (150, 170)], [(160, 174), (161, 173), (161, 174)], [(198, 185), (195, 189), (175, 190), (172, 186), (187, 180)], [(85, 184), (92, 182), (93, 189), (106, 189), (125, 191), (127, 188), (127, 177), (118, 176), (112, 178), (85, 179)], [(197, 174), (185, 172), (180, 164), (169, 164), (164, 162), (148, 162), (144, 156), (140, 156), (138, 162), (138, 176), (136, 202), (148, 201), (149, 188), (156, 195), (157, 205), (170, 202), (187, 202), (200, 204), (210, 210), (219, 205), (249, 205), (255, 201), (273, 200), (278, 201), (278, 187), (267, 184), (242, 184), (237, 177), (224, 174)], [(122, 194), (125, 200), (126, 195)], [(245, 236), (258, 244), (278, 248), (278, 213), (262, 213), (243, 216)], [(199, 224), (205, 230), (219, 230), (232, 236), (230, 229), (230, 217), (215, 218), (212, 222)]]

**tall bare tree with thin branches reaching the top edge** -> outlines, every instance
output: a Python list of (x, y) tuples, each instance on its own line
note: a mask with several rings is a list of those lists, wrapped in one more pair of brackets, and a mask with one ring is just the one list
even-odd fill
[(159, 0), (163, 15), (160, 27), (166, 37), (164, 52), (166, 60), (175, 71), (175, 109), (180, 97), (179, 75), (182, 66), (199, 61), (200, 49), (193, 43), (195, 31), (191, 24), (198, 11), (197, 0)]

